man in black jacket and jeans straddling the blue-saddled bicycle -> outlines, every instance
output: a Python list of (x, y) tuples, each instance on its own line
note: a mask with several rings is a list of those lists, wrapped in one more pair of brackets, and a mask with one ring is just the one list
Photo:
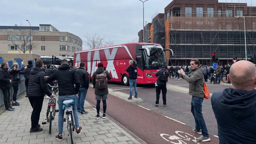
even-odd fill
[[(73, 116), (75, 119), (75, 127), (77, 134), (80, 134), (82, 131), (82, 127), (79, 126), (79, 118), (76, 110), (76, 102), (78, 99), (78, 91), (80, 88), (80, 81), (77, 75), (77, 72), (74, 69), (71, 69), (68, 66), (68, 60), (61, 60), (61, 67), (56, 70), (51, 76), (47, 76), (45, 78), (46, 82), (49, 83), (55, 79), (58, 80), (59, 85), (59, 97), (58, 97), (58, 105), (59, 105), (59, 116), (58, 116), (58, 129), (59, 134), (55, 137), (57, 140), (62, 140), (62, 132), (63, 132), (63, 117), (64, 110), (62, 109), (63, 101), (73, 99), (74, 103), (72, 105)], [(75, 84), (75, 86), (74, 86)]]

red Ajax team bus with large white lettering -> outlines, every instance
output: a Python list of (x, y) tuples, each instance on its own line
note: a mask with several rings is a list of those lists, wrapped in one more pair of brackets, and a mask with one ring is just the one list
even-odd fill
[[(92, 79), (92, 74), (98, 68), (99, 62), (104, 64), (104, 68), (110, 73), (113, 82), (121, 82), (129, 85), (129, 74), (125, 71), (129, 66), (129, 61), (137, 61), (137, 83), (154, 84), (157, 81), (155, 76), (161, 66), (167, 67), (164, 51), (159, 44), (153, 43), (126, 43), (103, 48), (88, 49), (75, 52), (74, 66), (79, 67), (80, 62), (85, 63), (85, 69)], [(156, 59), (156, 60), (154, 60)]]

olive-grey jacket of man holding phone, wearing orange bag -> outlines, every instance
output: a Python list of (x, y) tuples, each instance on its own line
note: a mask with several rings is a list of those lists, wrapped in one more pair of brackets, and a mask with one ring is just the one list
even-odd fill
[[(183, 78), (189, 83), (189, 95), (196, 97), (204, 97), (203, 88), (205, 70), (200, 67), (192, 70), (188, 75), (184, 75)], [(199, 86), (201, 85), (201, 87)]]

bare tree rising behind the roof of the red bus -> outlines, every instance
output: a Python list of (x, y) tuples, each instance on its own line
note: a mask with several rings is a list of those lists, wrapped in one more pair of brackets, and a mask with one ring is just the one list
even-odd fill
[(97, 34), (87, 33), (86, 35), (84, 35), (84, 37), (86, 38), (84, 43), (90, 49), (111, 46), (114, 44), (112, 40), (105, 40), (105, 37), (101, 37)]

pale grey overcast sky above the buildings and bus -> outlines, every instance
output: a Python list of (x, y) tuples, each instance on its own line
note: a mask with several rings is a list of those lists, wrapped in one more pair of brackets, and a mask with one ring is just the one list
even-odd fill
[[(151, 22), (155, 13), (164, 13), (164, 8), (171, 1), (146, 1), (144, 21)], [(251, 4), (251, 0), (247, 3)], [(252, 4), (256, 6), (256, 0), (252, 0)], [(79, 36), (83, 41), (84, 34), (88, 33), (122, 44), (136, 39), (138, 31), (143, 28), (142, 6), (139, 0), (1, 0), (0, 25), (29, 25), (28, 19), (31, 26), (51, 24), (60, 31)]]

